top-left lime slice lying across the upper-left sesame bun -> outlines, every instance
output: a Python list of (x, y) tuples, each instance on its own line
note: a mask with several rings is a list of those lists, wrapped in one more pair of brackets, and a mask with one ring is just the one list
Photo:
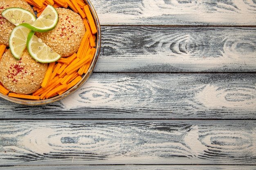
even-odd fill
[(2, 16), (16, 26), (21, 23), (33, 24), (36, 21), (33, 13), (18, 7), (5, 9), (2, 11)]

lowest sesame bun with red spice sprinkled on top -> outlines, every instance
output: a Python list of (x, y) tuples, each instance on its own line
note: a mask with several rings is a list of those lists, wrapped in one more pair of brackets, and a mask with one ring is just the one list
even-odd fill
[(30, 94), (40, 88), (48, 64), (34, 60), (25, 49), (20, 60), (9, 49), (0, 60), (0, 82), (9, 91), (18, 94)]

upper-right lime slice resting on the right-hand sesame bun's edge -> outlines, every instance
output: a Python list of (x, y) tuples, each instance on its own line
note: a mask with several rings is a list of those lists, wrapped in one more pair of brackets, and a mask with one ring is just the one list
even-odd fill
[(48, 4), (33, 24), (22, 23), (22, 25), (33, 31), (44, 33), (54, 29), (57, 23), (58, 12), (52, 5)]

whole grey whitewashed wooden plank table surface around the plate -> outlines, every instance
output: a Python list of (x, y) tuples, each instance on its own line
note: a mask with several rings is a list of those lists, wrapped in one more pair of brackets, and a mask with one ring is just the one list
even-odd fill
[(256, 169), (256, 1), (92, 0), (93, 74), (0, 99), (0, 169)]

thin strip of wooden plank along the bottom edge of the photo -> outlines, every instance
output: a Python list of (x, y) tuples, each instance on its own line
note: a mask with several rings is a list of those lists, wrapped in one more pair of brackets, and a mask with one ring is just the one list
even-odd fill
[(255, 170), (256, 166), (237, 165), (68, 165), (0, 166), (0, 170)]

